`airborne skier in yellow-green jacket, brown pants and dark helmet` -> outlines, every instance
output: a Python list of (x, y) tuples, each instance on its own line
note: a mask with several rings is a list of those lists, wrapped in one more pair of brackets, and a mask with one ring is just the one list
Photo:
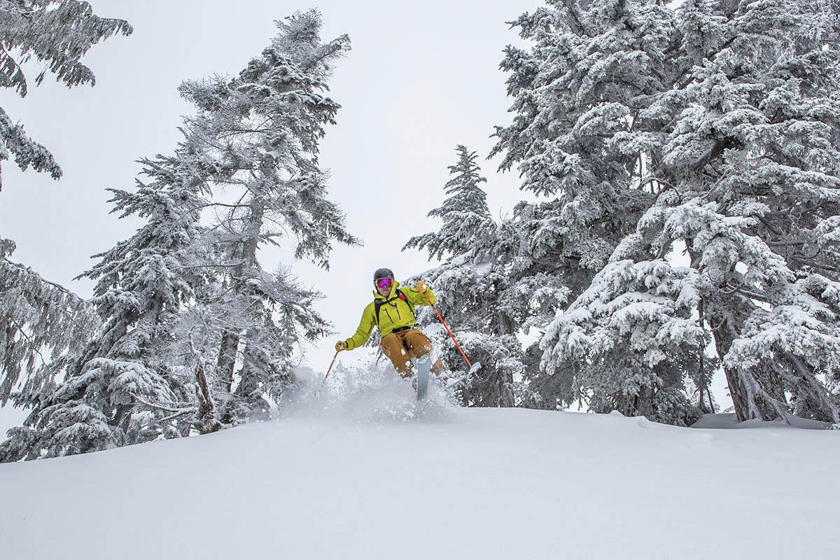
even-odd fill
[[(335, 343), (335, 351), (353, 350), (364, 345), (375, 325), (382, 335), (382, 351), (391, 359), (396, 373), (407, 379), (412, 376), (412, 358), (420, 361), (428, 355), (431, 359), (432, 343), (415, 327), (414, 307), (431, 305), (435, 301), (434, 294), (423, 280), (417, 280), (413, 290), (399, 287), (391, 269), (376, 270), (373, 283), (374, 301), (362, 311), (359, 328), (352, 337)], [(443, 368), (444, 364), (438, 359), (431, 369), (438, 373)]]

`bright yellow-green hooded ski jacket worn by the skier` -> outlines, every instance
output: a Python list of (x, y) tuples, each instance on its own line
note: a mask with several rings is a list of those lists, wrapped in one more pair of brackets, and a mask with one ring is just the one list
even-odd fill
[[(399, 285), (399, 282), (394, 282), (388, 297), (382, 297), (378, 291), (373, 290), (375, 300), (365, 307), (365, 311), (362, 311), (362, 320), (359, 322), (356, 333), (345, 341), (348, 350), (363, 346), (370, 338), (370, 332), (373, 332), (374, 326), (379, 327), (379, 332), (383, 338), (391, 334), (395, 328), (411, 327), (416, 322), (414, 307), (428, 306), (429, 300), (432, 303), (435, 301), (431, 288), (426, 290), (427, 300), (422, 292), (408, 288), (400, 290)], [(400, 298), (400, 293), (405, 296), (405, 300)], [(376, 323), (376, 301), (380, 301), (379, 324)]]

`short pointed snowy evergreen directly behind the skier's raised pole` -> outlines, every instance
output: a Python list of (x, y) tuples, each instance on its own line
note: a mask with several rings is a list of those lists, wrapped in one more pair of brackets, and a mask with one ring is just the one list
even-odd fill
[(458, 163), (449, 166), (452, 178), (444, 186), (447, 195), (441, 207), (428, 213), (441, 217), (437, 232), (416, 236), (403, 250), (427, 249), (429, 259), (447, 257), (446, 263), (423, 274), (438, 296), (436, 307), (459, 345), (481, 369), (473, 375), (459, 349), (452, 342), (431, 309), (420, 311), (418, 322), (433, 339), (438, 353), (448, 364), (449, 386), (465, 406), (514, 406), (517, 385), (522, 378), (522, 348), (515, 329), (499, 309), (504, 273), (499, 254), (500, 228), (490, 216), (486, 192), (475, 163), (477, 154), (465, 146), (456, 148)]

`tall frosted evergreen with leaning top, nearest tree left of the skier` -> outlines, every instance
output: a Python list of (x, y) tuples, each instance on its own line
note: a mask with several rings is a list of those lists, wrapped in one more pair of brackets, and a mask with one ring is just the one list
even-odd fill
[(323, 92), (349, 50), (346, 35), (322, 43), (321, 25), (315, 10), (296, 13), (277, 22), (275, 39), (239, 76), (181, 86), (200, 109), (187, 129), (203, 139), (198, 149), (213, 162), (214, 184), (235, 191), (233, 203), (216, 203), (226, 213), (215, 230), (224, 266), (213, 305), (228, 321), (216, 374), (230, 396), (228, 421), (265, 411), (264, 395), (279, 396), (293, 380), (297, 342), (327, 332), (310, 306), (318, 295), (285, 272), (265, 273), (260, 247), (293, 236), (298, 259), (327, 268), (333, 242), (358, 243), (328, 200), (318, 166), (318, 141), (339, 110)]

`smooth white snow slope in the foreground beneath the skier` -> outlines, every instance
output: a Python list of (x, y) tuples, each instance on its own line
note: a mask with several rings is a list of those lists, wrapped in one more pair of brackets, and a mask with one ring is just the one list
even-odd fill
[(840, 432), (420, 409), (386, 381), (209, 436), (2, 464), (0, 557), (829, 558), (838, 464)]

